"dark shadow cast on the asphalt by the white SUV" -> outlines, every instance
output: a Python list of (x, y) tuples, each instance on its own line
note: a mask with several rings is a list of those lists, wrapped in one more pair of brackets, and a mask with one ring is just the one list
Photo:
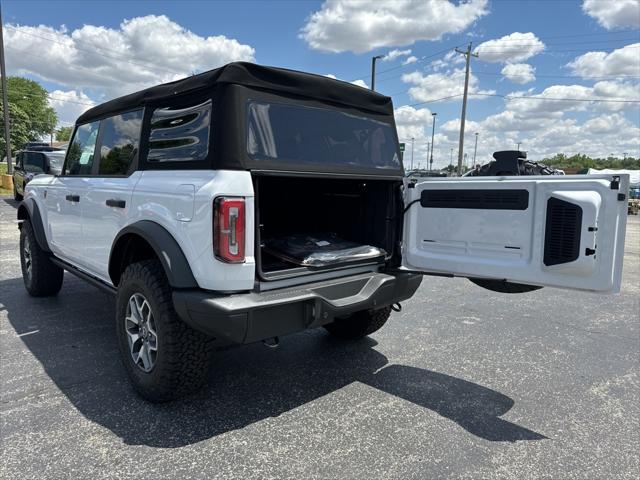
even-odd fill
[[(289, 412), (353, 382), (432, 410), (485, 440), (546, 438), (501, 419), (514, 401), (500, 392), (422, 368), (389, 365), (373, 348), (375, 340), (346, 343), (323, 330), (285, 337), (278, 349), (254, 344), (217, 352), (203, 391), (153, 405), (135, 394), (120, 363), (112, 297), (69, 274), (54, 298), (28, 297), (21, 278), (0, 282), (0, 291), (0, 309), (6, 309), (16, 333), (23, 334), (20, 340), (56, 387), (86, 418), (127, 444), (174, 448), (200, 442)], [(30, 372), (19, 374), (25, 377), (22, 384), (10, 382), (4, 388), (5, 405), (52, 394), (50, 389), (33, 392)], [(332, 411), (348, 414), (349, 408), (336, 404)]]

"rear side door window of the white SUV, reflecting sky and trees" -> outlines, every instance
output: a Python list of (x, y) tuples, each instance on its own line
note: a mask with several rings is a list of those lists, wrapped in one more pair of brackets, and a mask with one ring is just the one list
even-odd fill
[(142, 110), (102, 120), (99, 175), (126, 175), (138, 155)]

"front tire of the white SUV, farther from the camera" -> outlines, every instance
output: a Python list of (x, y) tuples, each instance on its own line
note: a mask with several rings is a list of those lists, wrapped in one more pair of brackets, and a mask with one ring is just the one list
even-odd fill
[[(25, 253), (27, 244), (29, 260)], [(62, 288), (64, 271), (54, 265), (49, 254), (40, 248), (29, 220), (25, 220), (20, 226), (20, 267), (22, 268), (24, 287), (32, 297), (55, 295)]]

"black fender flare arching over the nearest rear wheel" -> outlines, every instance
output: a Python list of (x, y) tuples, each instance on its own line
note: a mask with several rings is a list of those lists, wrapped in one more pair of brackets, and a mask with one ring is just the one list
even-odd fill
[(191, 266), (173, 235), (162, 225), (150, 220), (140, 220), (124, 227), (113, 241), (109, 254), (109, 277), (114, 285), (120, 278), (120, 265), (126, 249), (127, 238), (141, 237), (155, 252), (164, 268), (169, 285), (174, 288), (198, 288)]

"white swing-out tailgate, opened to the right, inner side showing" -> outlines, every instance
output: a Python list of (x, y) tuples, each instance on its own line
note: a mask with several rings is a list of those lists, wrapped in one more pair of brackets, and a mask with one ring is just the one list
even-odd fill
[(403, 266), (620, 291), (627, 175), (429, 179), (405, 190)]

